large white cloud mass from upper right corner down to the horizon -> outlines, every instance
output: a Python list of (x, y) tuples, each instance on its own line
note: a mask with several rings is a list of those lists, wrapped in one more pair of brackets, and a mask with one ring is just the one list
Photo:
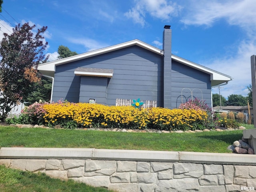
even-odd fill
[[(238, 42), (238, 46), (230, 46), (222, 58), (213, 58), (203, 61), (207, 67), (222, 72), (234, 78), (223, 86), (222, 96), (242, 94), (247, 96), (247, 86), (251, 84), (250, 56), (256, 54), (256, 4), (253, 0), (203, 0), (190, 1), (187, 12), (183, 14), (182, 22), (186, 25), (211, 27), (218, 20), (225, 20), (229, 25), (240, 27), (245, 38)], [(228, 35), (228, 34), (227, 34)], [(219, 93), (218, 88), (213, 88), (214, 93)]]

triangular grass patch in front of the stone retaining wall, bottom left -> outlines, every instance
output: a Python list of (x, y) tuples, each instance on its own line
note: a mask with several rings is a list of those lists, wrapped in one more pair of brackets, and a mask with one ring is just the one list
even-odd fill
[(110, 192), (74, 180), (53, 179), (46, 174), (15, 170), (0, 165), (1, 192)]

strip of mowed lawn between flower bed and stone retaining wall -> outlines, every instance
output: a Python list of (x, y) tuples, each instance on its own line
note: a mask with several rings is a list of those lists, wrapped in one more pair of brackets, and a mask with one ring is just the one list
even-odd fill
[[(243, 125), (253, 128), (253, 125)], [(98, 148), (230, 153), (242, 130), (200, 133), (138, 133), (0, 127), (0, 147)]]

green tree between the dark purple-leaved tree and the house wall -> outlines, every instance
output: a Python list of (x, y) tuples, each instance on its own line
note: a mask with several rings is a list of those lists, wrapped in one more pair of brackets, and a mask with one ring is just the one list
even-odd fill
[(34, 102), (39, 102), (39, 100), (46, 102), (50, 101), (52, 80), (42, 76), (40, 82), (30, 84), (30, 87), (33, 91), (26, 98), (24, 98), (26, 106), (29, 106)]

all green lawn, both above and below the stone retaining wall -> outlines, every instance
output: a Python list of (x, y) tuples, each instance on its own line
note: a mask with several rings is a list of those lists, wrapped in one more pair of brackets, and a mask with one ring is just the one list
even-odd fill
[[(244, 124), (247, 129), (253, 125)], [(92, 130), (16, 128), (0, 126), (0, 147), (100, 148), (230, 153), (226, 148), (242, 138), (242, 130), (201, 133), (130, 133)], [(109, 192), (73, 180), (61, 181), (0, 165), (0, 189), (5, 192)]]

